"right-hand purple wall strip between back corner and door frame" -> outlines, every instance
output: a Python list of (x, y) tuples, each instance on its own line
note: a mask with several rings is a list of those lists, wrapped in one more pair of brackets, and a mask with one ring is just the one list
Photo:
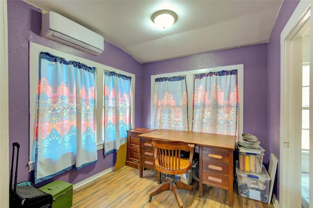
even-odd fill
[[(279, 160), (280, 134), (280, 34), (299, 0), (284, 0), (268, 41), (268, 153)], [(279, 163), (274, 193), (279, 199)]]

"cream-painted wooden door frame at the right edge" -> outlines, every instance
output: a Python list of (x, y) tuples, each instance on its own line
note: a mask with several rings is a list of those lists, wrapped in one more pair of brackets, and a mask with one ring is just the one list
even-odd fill
[[(280, 161), (279, 161), (279, 206), (285, 207), (301, 207), (301, 186), (298, 185), (301, 181), (301, 102), (302, 95), (299, 94), (299, 78), (302, 73), (302, 38), (305, 32), (312, 31), (312, 14), (313, 0), (301, 0), (294, 10), (291, 18), (281, 32), (281, 80), (280, 80)], [(311, 36), (312, 37), (312, 36)], [(312, 69), (313, 41), (310, 37), (310, 64)], [(301, 51), (301, 53), (299, 53)], [(301, 56), (300, 56), (301, 54)], [(312, 71), (312, 70), (311, 70)], [(313, 82), (313, 73), (310, 77), (310, 86)], [(302, 86), (302, 85), (301, 85)], [(310, 92), (310, 103), (313, 101), (313, 92)], [(300, 103), (300, 104), (299, 104)], [(312, 105), (310, 105), (312, 106)], [(310, 111), (310, 117), (313, 116)], [(310, 123), (310, 130), (313, 128), (313, 123)], [(312, 139), (311, 139), (312, 140)], [(300, 140), (301, 141), (301, 140)], [(310, 142), (310, 149), (313, 150), (313, 142)], [(313, 156), (313, 151), (310, 151), (310, 158)], [(310, 171), (313, 172), (313, 167), (310, 166)], [(312, 182), (310, 182), (312, 185)], [(310, 193), (310, 198), (312, 198)]]

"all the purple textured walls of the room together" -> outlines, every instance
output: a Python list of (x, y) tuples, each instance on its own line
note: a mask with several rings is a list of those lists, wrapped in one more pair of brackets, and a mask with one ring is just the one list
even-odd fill
[[(105, 51), (96, 57), (43, 38), (41, 10), (21, 0), (8, 0), (9, 142), (11, 144), (17, 141), (21, 144), (18, 182), (33, 180), (33, 173), (28, 173), (27, 167), (29, 41), (135, 74), (135, 127), (150, 127), (151, 75), (244, 64), (244, 132), (252, 133), (260, 139), (261, 146), (266, 149), (265, 164), (268, 163), (271, 152), (279, 157), (280, 33), (298, 2), (299, 0), (283, 2), (268, 43), (174, 58), (142, 66), (123, 50), (108, 42), (105, 42)], [(114, 162), (114, 154), (104, 157), (102, 151), (98, 151), (96, 164), (80, 171), (68, 171), (55, 179), (77, 183), (112, 167)], [(279, 175), (279, 167), (276, 175)], [(43, 184), (39, 184), (41, 185)], [(279, 177), (276, 178), (274, 188), (274, 193), (279, 199), (278, 188)]]

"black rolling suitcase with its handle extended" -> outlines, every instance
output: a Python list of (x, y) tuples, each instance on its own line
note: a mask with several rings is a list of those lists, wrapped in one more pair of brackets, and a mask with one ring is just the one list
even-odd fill
[[(10, 176), (10, 208), (52, 208), (51, 194), (44, 193), (43, 191), (36, 189), (35, 187), (33, 187), (33, 184), (30, 181), (16, 184), (16, 179), (18, 176), (20, 144), (14, 142), (12, 146), (13, 151)], [(16, 154), (14, 186), (12, 186), (15, 147), (17, 147), (17, 154)]]

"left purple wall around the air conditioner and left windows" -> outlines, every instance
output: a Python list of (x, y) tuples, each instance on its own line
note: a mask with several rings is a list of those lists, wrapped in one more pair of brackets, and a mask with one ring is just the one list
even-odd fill
[[(78, 57), (135, 74), (135, 127), (141, 126), (142, 65), (122, 49), (105, 42), (105, 51), (99, 56), (67, 47), (41, 37), (41, 10), (21, 0), (8, 0), (8, 57), (9, 57), (9, 143), (21, 144), (18, 182), (33, 181), (33, 172), (28, 172), (29, 148), (29, 41), (66, 52)], [(10, 149), (11, 145), (10, 145)], [(10, 150), (11, 151), (11, 150)], [(10, 152), (10, 161), (11, 161)], [(115, 153), (104, 157), (98, 151), (98, 162), (79, 171), (70, 170), (55, 179), (77, 183), (115, 164)], [(43, 182), (47, 183), (49, 181)], [(43, 183), (36, 186), (41, 186)]]

